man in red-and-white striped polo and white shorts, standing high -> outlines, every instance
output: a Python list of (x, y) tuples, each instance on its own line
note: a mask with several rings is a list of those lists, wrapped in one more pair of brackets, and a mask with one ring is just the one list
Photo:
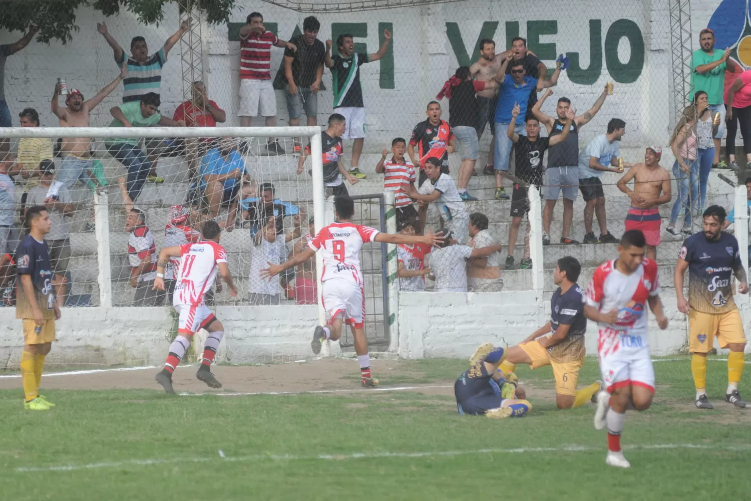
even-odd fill
[[(271, 46), (297, 51), (288, 41), (277, 38), (264, 27), (260, 12), (251, 12), (240, 28), (240, 125), (250, 127), (254, 116), (266, 119), (267, 127), (276, 127), (276, 96), (271, 83)], [(285, 150), (275, 137), (269, 137), (266, 149), (271, 155)]]

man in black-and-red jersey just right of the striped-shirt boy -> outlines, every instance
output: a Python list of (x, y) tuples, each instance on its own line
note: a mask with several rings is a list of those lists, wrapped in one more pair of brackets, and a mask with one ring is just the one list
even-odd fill
[[(418, 186), (422, 186), (427, 179), (424, 172), (427, 158), (439, 158), (442, 174), (448, 174), (448, 154), (454, 152), (454, 132), (451, 131), (451, 125), (441, 119), (441, 105), (438, 101), (430, 101), (425, 114), (427, 119), (412, 129), (412, 137), (407, 146), (412, 163), (420, 166)], [(415, 146), (418, 146), (418, 157), (415, 157)]]

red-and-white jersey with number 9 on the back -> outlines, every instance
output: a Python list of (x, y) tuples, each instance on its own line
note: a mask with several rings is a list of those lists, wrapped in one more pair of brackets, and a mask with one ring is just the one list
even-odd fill
[(321, 282), (344, 279), (363, 285), (360, 273), (360, 249), (363, 243), (374, 242), (379, 231), (369, 226), (353, 225), (351, 222), (335, 222), (318, 232), (308, 244), (315, 252), (321, 252), (324, 271)]

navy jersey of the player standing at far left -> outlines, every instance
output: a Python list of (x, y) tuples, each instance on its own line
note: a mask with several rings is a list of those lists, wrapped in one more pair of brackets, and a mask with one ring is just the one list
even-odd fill
[(21, 284), (21, 276), (32, 277), (37, 305), (44, 318), (53, 318), (55, 306), (55, 288), (52, 285), (52, 266), (47, 242), (38, 242), (31, 235), (26, 235), (16, 250), (16, 274), (18, 276), (16, 293), (16, 318), (34, 318), (32, 304), (26, 297)]

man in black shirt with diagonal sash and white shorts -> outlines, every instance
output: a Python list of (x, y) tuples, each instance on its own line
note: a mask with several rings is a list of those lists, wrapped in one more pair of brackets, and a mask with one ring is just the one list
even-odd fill
[(377, 53), (354, 53), (352, 35), (345, 33), (336, 38), (339, 55), (330, 55), (332, 41), (326, 41), (326, 68), (331, 69), (333, 85), (333, 110), (344, 116), (347, 122), (342, 139), (352, 139), (352, 164), (349, 173), (357, 179), (364, 179), (365, 174), (357, 168), (360, 155), (363, 152), (365, 140), (365, 104), (363, 104), (363, 89), (360, 86), (360, 66), (366, 62), (382, 59), (388, 51), (391, 42), (391, 32), (383, 31), (384, 41)]

